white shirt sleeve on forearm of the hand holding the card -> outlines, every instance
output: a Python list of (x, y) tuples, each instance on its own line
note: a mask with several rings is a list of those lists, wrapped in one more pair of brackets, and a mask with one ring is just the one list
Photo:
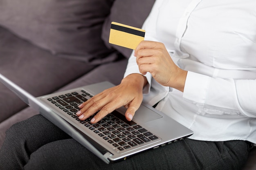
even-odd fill
[(256, 80), (222, 79), (188, 72), (183, 98), (206, 113), (256, 118)]

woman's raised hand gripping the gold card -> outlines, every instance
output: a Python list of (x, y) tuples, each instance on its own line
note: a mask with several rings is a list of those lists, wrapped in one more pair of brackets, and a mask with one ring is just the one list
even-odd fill
[(184, 91), (187, 71), (176, 66), (164, 44), (142, 41), (134, 55), (141, 74), (149, 72), (159, 84)]

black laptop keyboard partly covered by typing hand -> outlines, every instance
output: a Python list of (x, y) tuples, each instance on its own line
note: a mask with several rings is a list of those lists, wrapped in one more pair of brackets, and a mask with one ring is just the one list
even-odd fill
[(99, 135), (102, 139), (112, 144), (118, 152), (126, 151), (129, 148), (148, 144), (158, 137), (149, 132), (135, 121), (128, 121), (124, 115), (113, 111), (106, 115), (103, 119), (96, 124), (92, 124), (90, 120), (96, 115), (88, 117), (81, 121), (76, 112), (79, 110), (79, 104), (87, 101), (85, 97), (92, 97), (90, 93), (82, 90), (81, 93), (72, 92), (65, 95), (58, 95), (52, 98), (47, 98), (56, 107), (63, 110), (67, 115), (70, 115), (80, 124), (92, 130), (95, 134)]

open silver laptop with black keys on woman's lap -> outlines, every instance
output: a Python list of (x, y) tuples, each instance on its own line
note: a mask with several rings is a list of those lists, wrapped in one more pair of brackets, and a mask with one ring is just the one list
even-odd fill
[(110, 82), (40, 97), (30, 95), (1, 74), (0, 82), (106, 163), (125, 160), (139, 152), (157, 149), (193, 134), (189, 128), (145, 103), (141, 104), (132, 121), (124, 117), (124, 107), (116, 109), (96, 124), (90, 123), (92, 117), (79, 120), (75, 115), (78, 105), (114, 86)]

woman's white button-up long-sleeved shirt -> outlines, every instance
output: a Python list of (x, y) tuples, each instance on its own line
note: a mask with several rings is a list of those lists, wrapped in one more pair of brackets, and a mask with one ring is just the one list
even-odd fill
[[(191, 139), (256, 143), (256, 1), (156, 0), (143, 29), (188, 71), (184, 93), (147, 73), (144, 101), (160, 101)], [(124, 77), (131, 73), (139, 73), (133, 53)]]

